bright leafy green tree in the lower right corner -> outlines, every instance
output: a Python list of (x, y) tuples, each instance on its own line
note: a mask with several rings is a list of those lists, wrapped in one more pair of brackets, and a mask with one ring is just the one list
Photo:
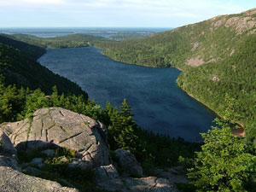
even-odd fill
[(247, 152), (243, 139), (233, 136), (228, 125), (202, 137), (204, 145), (188, 174), (197, 191), (247, 191), (246, 184), (256, 181), (256, 156)]

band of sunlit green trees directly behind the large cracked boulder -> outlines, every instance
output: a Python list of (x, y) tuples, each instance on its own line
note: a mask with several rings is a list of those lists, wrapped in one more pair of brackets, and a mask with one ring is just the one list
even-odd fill
[(84, 96), (70, 94), (57, 95), (56, 87), (52, 96), (45, 96), (41, 90), (17, 89), (0, 83), (0, 122), (15, 121), (31, 116), (39, 108), (61, 107), (77, 113), (84, 113), (95, 119), (102, 120), (104, 111), (96, 102), (90, 102)]

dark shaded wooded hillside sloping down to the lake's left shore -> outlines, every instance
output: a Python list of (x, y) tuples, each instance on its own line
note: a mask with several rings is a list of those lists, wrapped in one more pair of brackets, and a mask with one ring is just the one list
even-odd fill
[[(6, 84), (16, 84), (18, 87), (29, 87), (32, 90), (40, 88), (46, 94), (51, 93), (52, 87), (56, 85), (60, 93), (88, 97), (78, 84), (52, 73), (31, 56), (25, 54), (26, 51), (36, 46), (26, 45), (15, 40), (8, 41), (8, 44), (0, 43), (0, 78), (3, 78)], [(10, 44), (19, 49), (15, 49)], [(34, 53), (37, 51), (35, 50)], [(36, 55), (34, 56), (37, 57)]]

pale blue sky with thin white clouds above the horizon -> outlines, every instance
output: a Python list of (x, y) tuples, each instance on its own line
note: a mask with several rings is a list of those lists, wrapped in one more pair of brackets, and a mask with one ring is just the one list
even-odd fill
[(177, 27), (255, 0), (0, 0), (0, 27)]

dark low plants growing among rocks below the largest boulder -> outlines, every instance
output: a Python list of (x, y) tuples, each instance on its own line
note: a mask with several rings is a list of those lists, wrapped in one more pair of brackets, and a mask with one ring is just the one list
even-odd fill
[[(62, 186), (79, 189), (79, 191), (98, 191), (94, 186), (94, 172), (90, 169), (69, 168), (68, 163), (75, 157), (76, 152), (67, 148), (55, 148), (55, 154), (50, 157), (43, 154), (42, 150), (18, 151), (21, 165), (27, 165), (33, 158), (44, 158), (42, 167), (35, 165), (40, 170), (37, 177), (61, 183)], [(25, 167), (22, 167), (26, 169)]]

